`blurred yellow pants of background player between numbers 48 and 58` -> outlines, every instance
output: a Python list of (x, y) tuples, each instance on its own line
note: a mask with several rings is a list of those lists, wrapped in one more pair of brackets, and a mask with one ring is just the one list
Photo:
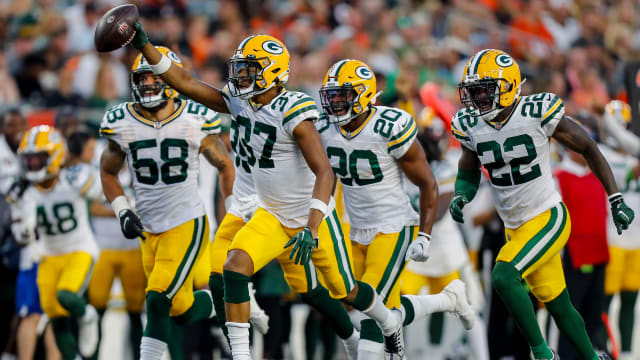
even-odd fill
[(122, 283), (127, 311), (141, 312), (147, 279), (142, 269), (140, 249), (105, 249), (100, 252), (89, 282), (89, 303), (97, 309), (106, 309), (116, 276)]

